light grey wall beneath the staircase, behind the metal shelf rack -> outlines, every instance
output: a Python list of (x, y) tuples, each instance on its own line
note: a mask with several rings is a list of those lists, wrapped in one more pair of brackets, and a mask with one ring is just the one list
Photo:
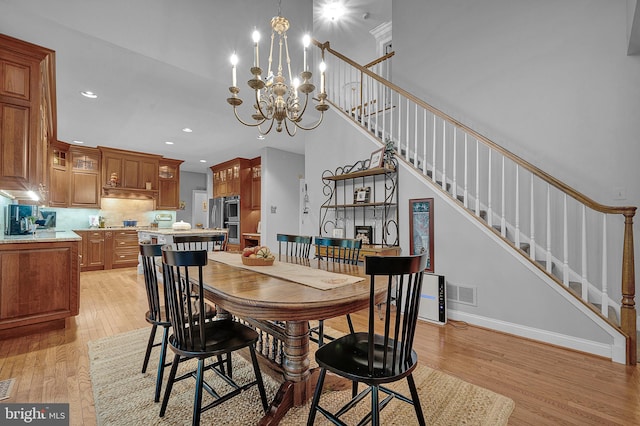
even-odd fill
[[(326, 114), (322, 132), (307, 135), (305, 174), (310, 217), (302, 232), (318, 235), (324, 201), (324, 170), (369, 158), (378, 145), (336, 112)], [(335, 153), (332, 156), (327, 153)], [(578, 350), (611, 355), (613, 338), (598, 319), (586, 318), (579, 302), (557, 293), (535, 270), (487, 236), (475, 219), (440, 198), (412, 173), (400, 169), (399, 223), (402, 254), (409, 253), (408, 200), (434, 197), (434, 266), (447, 283), (477, 288), (477, 306), (450, 303), (450, 317)], [(571, 298), (570, 298), (571, 299)]]

